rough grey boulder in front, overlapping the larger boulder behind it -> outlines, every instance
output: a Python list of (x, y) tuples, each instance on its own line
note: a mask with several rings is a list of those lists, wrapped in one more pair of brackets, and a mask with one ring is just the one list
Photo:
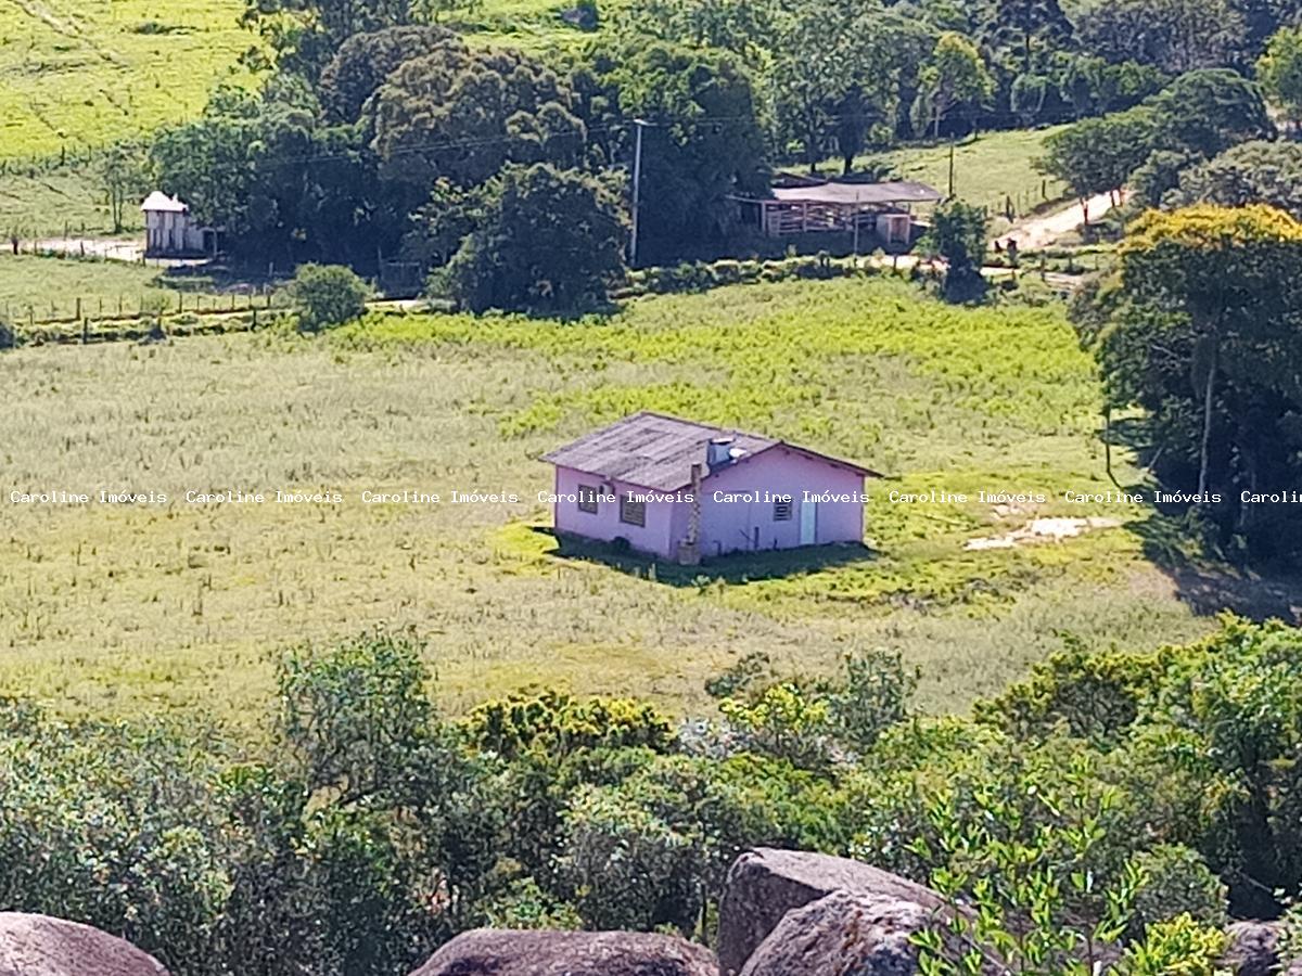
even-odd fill
[(742, 976), (907, 976), (918, 969), (909, 936), (931, 912), (853, 891), (833, 891), (786, 912), (759, 943)]

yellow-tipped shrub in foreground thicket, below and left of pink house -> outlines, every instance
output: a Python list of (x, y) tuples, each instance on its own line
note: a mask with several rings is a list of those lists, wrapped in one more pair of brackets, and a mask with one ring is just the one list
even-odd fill
[(477, 748), (504, 759), (536, 751), (560, 759), (581, 750), (668, 750), (669, 720), (634, 699), (575, 699), (547, 688), (478, 705), (462, 724)]

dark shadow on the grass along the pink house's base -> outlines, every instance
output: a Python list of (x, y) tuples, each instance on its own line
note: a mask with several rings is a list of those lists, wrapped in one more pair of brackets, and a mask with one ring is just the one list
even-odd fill
[(556, 558), (596, 562), (630, 576), (673, 587), (702, 587), (717, 580), (736, 586), (762, 579), (783, 579), (876, 558), (876, 553), (862, 543), (838, 543), (807, 545), (799, 549), (730, 553), (702, 560), (699, 566), (680, 566), (656, 556), (620, 550), (607, 543), (559, 534), (543, 526), (533, 531), (555, 540), (556, 548), (548, 554)]

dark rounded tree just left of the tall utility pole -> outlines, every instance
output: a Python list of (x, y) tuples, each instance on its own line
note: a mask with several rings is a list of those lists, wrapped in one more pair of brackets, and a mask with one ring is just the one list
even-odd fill
[(624, 271), (625, 237), (618, 197), (598, 177), (543, 163), (508, 167), (432, 285), (474, 311), (582, 308), (604, 302)]

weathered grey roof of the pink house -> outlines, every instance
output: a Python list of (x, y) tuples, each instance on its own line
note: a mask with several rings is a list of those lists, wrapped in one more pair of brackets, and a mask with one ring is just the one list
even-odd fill
[(730, 463), (783, 446), (863, 476), (880, 476), (866, 467), (772, 437), (698, 424), (650, 410), (625, 416), (557, 448), (544, 454), (543, 461), (639, 488), (674, 492), (691, 484), (693, 465), (700, 465), (702, 476), (710, 474), (710, 442), (720, 439), (728, 441)]

